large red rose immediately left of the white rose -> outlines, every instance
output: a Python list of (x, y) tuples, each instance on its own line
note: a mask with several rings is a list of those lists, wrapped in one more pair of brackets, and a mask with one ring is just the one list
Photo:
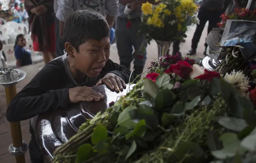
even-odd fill
[(192, 71), (192, 65), (186, 61), (178, 61), (176, 64), (171, 64), (170, 68), (165, 70), (165, 73), (175, 73), (181, 78), (188, 78)]

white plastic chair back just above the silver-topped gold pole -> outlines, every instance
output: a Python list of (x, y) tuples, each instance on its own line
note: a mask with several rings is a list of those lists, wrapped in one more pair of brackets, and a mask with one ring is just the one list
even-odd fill
[(7, 59), (7, 66), (15, 68), (16, 67), (16, 58), (14, 55), (13, 48), (14, 48), (14, 44), (8, 44), (8, 45), (3, 46), (3, 50), (5, 52), (6, 59)]

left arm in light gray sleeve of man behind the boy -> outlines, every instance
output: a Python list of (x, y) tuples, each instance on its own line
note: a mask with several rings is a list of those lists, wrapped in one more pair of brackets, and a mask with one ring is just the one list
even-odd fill
[(60, 36), (63, 35), (64, 22), (72, 12), (74, 12), (73, 0), (58, 0), (58, 10), (56, 12), (56, 17), (60, 21)]

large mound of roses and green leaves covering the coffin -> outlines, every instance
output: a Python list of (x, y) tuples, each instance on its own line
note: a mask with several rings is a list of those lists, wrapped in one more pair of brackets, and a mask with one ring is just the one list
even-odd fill
[(160, 59), (56, 149), (53, 163), (253, 162), (256, 113), (238, 91), (242, 72), (222, 77), (189, 58)]

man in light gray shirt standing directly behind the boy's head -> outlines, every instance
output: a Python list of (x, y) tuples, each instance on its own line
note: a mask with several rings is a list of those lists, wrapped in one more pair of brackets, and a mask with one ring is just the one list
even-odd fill
[[(56, 17), (59, 20), (59, 36), (63, 34), (64, 21), (75, 10), (96, 10), (106, 16), (109, 27), (114, 24), (118, 14), (118, 0), (57, 0)], [(64, 50), (64, 49), (63, 49)]]

